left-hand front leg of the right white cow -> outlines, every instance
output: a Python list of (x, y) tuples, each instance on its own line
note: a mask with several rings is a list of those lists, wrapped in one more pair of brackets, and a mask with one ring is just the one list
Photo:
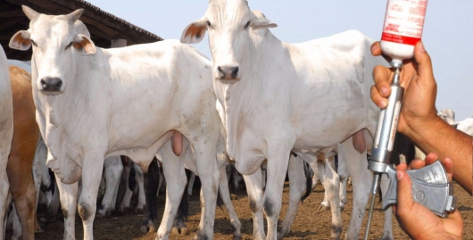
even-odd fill
[(253, 213), (253, 239), (262, 240), (266, 238), (264, 234), (264, 217), (262, 211), (262, 174), (258, 168), (252, 175), (243, 175), (245, 180), (246, 193), (250, 200), (250, 209)]

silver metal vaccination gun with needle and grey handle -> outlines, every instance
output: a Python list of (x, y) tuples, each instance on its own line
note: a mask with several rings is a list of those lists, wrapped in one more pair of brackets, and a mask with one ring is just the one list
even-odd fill
[[(389, 178), (389, 188), (382, 203), (383, 210), (386, 211), (389, 205), (397, 203), (396, 170), (390, 160), (402, 107), (404, 88), (400, 86), (402, 63), (391, 62), (391, 66), (394, 70), (391, 95), (388, 97), (386, 109), (379, 113), (378, 126), (369, 157), (368, 168), (374, 172), (374, 176), (365, 239), (368, 239), (373, 206), (382, 174), (386, 174)], [(455, 209), (456, 197), (452, 196), (452, 184), (449, 183), (446, 170), (440, 161), (435, 161), (435, 163), (419, 170), (407, 170), (406, 172), (412, 181), (414, 201), (423, 204), (441, 217), (446, 217), (449, 211)]]

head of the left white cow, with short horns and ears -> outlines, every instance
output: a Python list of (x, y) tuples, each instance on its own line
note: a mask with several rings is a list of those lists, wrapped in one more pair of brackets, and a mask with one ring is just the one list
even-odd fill
[(85, 29), (79, 21), (83, 10), (54, 16), (24, 5), (22, 9), (29, 18), (29, 29), (15, 33), (10, 47), (25, 51), (33, 46), (32, 70), (36, 71), (37, 89), (46, 95), (61, 94), (66, 82), (76, 74), (74, 54), (95, 54), (87, 29), (87, 34), (80, 32)]

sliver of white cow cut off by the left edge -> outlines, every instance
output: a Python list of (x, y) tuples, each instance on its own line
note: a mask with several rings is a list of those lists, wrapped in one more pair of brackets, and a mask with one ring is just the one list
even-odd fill
[(2, 226), (0, 239), (4, 239), (4, 216), (10, 187), (6, 176), (6, 164), (13, 136), (12, 86), (9, 72), (4, 48), (0, 46), (0, 226)]

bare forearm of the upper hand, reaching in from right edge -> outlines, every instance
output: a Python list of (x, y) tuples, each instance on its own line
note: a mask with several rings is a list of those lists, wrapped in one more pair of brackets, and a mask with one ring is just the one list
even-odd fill
[(406, 133), (424, 153), (437, 153), (453, 161), (453, 178), (472, 194), (473, 137), (436, 118)]

